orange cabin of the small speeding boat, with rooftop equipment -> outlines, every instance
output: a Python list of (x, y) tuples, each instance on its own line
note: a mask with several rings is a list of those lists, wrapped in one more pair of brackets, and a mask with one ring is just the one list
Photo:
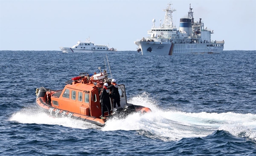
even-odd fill
[[(66, 82), (64, 89), (52, 92), (50, 96), (50, 105), (53, 108), (66, 110), (81, 115), (92, 117), (101, 116), (100, 92), (104, 83), (110, 85), (111, 79), (108, 79), (106, 73), (88, 74), (80, 73)], [(120, 105), (127, 104), (125, 86), (119, 85)], [(112, 100), (111, 111), (112, 111)], [(48, 102), (48, 103), (49, 103)], [(107, 115), (107, 109), (104, 115)]]

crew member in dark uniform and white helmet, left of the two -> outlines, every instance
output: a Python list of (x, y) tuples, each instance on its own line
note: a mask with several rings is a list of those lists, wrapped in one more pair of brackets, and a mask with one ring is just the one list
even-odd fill
[(103, 88), (101, 89), (101, 99), (100, 99), (100, 103), (101, 103), (101, 116), (100, 117), (104, 117), (104, 106), (107, 107), (108, 109), (108, 115), (111, 115), (110, 110), (111, 110), (111, 105), (110, 105), (110, 99), (109, 99), (109, 91), (108, 91), (108, 83), (104, 83)]

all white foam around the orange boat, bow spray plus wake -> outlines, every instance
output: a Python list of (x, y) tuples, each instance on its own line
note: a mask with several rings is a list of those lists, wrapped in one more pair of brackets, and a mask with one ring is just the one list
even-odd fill
[(35, 123), (61, 125), (78, 129), (112, 130), (136, 130), (140, 135), (152, 139), (175, 141), (182, 138), (205, 137), (212, 135), (216, 130), (224, 130), (235, 137), (246, 137), (256, 140), (256, 115), (226, 113), (187, 113), (172, 109), (158, 108), (155, 101), (146, 93), (131, 97), (128, 103), (142, 105), (151, 108), (148, 114), (134, 113), (120, 119), (113, 118), (106, 122), (104, 127), (86, 123), (84, 121), (69, 118), (52, 118), (40, 112), (40, 109), (23, 108), (12, 115), (10, 121), (19, 123)]

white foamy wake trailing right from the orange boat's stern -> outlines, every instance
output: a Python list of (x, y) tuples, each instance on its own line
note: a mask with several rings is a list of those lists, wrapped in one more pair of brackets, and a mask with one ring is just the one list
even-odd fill
[(134, 105), (151, 108), (149, 114), (131, 114), (125, 119), (107, 121), (103, 130), (140, 130), (149, 132), (153, 139), (179, 140), (204, 137), (224, 130), (236, 137), (256, 140), (256, 115), (226, 113), (187, 113), (176, 110), (162, 110), (146, 93), (128, 100)]

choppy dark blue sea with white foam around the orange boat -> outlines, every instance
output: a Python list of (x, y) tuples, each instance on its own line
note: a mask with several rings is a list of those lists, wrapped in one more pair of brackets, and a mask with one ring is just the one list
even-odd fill
[(128, 102), (152, 113), (105, 127), (49, 117), (37, 108), (35, 89), (62, 89), (81, 72), (105, 69), (106, 55), (0, 51), (0, 155), (256, 155), (256, 51), (107, 56)]

